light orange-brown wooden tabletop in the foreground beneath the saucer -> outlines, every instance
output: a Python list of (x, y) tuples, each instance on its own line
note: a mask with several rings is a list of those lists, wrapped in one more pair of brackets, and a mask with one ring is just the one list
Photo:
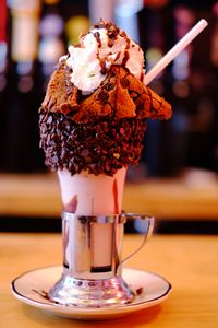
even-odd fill
[[(124, 255), (142, 236), (126, 235)], [(29, 269), (61, 262), (60, 234), (0, 234), (0, 327), (218, 327), (218, 238), (198, 235), (154, 235), (129, 267), (160, 273), (172, 283), (160, 305), (109, 321), (69, 320), (14, 298), (10, 282)]]

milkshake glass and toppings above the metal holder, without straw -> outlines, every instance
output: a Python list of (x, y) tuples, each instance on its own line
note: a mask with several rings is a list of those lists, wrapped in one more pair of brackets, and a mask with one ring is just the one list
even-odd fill
[(146, 119), (171, 116), (171, 106), (143, 84), (144, 75), (140, 46), (102, 20), (60, 59), (39, 127), (64, 210), (121, 213), (124, 172), (140, 161)]

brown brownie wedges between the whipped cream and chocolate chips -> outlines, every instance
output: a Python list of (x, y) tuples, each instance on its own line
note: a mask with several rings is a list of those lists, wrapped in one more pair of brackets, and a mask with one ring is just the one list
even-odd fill
[(121, 119), (140, 115), (141, 118), (168, 119), (172, 115), (170, 104), (118, 66), (111, 67), (95, 92), (84, 96), (71, 83), (65, 62), (53, 72), (40, 112), (70, 115), (75, 122), (106, 116)]

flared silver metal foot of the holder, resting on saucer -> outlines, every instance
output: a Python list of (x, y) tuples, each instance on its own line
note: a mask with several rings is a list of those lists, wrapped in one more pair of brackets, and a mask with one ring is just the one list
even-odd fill
[(131, 303), (134, 293), (121, 276), (89, 280), (63, 273), (48, 296), (51, 301), (66, 306), (105, 307)]

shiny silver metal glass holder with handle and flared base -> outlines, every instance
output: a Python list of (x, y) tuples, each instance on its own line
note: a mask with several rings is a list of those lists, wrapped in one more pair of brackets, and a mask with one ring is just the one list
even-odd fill
[[(141, 219), (146, 229), (142, 245), (122, 259), (126, 220)], [(48, 296), (68, 306), (100, 307), (130, 303), (134, 292), (122, 277), (123, 263), (150, 236), (154, 218), (137, 214), (77, 215), (62, 212), (63, 272)]]

